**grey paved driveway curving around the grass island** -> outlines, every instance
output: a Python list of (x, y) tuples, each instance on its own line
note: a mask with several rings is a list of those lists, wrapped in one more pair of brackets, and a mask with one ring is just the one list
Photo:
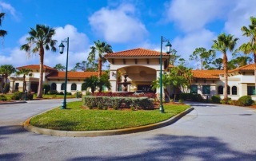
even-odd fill
[(256, 160), (256, 110), (217, 104), (165, 128), (129, 135), (57, 137), (19, 125), (61, 100), (0, 105), (0, 160)]

